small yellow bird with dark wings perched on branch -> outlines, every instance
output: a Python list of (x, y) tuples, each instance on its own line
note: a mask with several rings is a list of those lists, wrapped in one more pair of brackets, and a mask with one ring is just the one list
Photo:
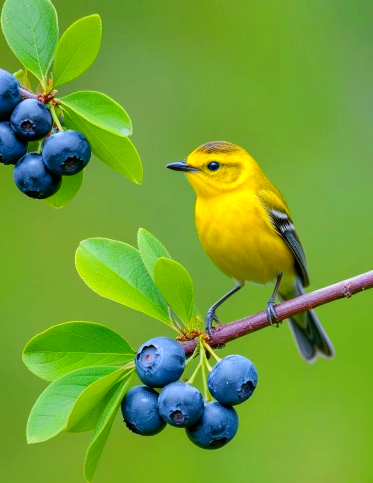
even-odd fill
[[(216, 309), (245, 282), (274, 283), (266, 313), (277, 327), (276, 295), (288, 300), (309, 285), (305, 252), (280, 191), (247, 151), (226, 141), (207, 142), (167, 168), (187, 173), (197, 195), (195, 219), (203, 249), (235, 281), (207, 311), (206, 330), (211, 335), (213, 322), (219, 323)], [(289, 323), (307, 362), (334, 356), (314, 311), (295, 315)]]

